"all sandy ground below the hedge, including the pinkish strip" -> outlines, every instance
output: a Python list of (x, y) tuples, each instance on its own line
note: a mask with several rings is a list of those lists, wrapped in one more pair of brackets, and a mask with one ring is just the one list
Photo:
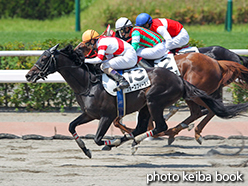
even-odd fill
[[(78, 115), (79, 113), (0, 113), (0, 133), (20, 137), (25, 134), (49, 137), (54, 135), (56, 127), (58, 134), (70, 135), (68, 123)], [(168, 124), (174, 126), (187, 115), (187, 111), (181, 111)], [(124, 121), (134, 126), (134, 119), (135, 115), (131, 115)], [(97, 122), (80, 126), (78, 134), (94, 134), (96, 127)], [(119, 131), (114, 128), (108, 133), (118, 134)], [(240, 154), (231, 156), (239, 151), (242, 140), (230, 139), (229, 136), (240, 134), (245, 136), (244, 149)], [(191, 138), (185, 140), (182, 137), (194, 136), (193, 131), (185, 130), (172, 146), (167, 145), (165, 138), (143, 141), (134, 156), (131, 155), (131, 142), (113, 148), (112, 151), (101, 151), (102, 147), (97, 146), (92, 139), (83, 139), (92, 151), (92, 159), (84, 155), (74, 140), (1, 139), (0, 185), (136, 186), (147, 185), (148, 180), (154, 179), (155, 182), (151, 181), (150, 185), (247, 185), (247, 134), (246, 118), (214, 118), (204, 130), (203, 136), (224, 136), (225, 138), (219, 138), (221, 140), (205, 138), (203, 144), (199, 145)], [(225, 179), (231, 176), (236, 181), (217, 182), (220, 175), (216, 178), (216, 173)], [(169, 174), (174, 176), (174, 182), (168, 181)], [(211, 180), (199, 181), (204, 176)], [(179, 180), (175, 181), (177, 178)]]

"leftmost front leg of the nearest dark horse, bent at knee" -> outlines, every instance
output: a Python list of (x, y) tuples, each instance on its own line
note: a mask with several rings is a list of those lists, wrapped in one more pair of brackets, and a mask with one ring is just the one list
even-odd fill
[(83, 150), (86, 156), (91, 158), (91, 152), (86, 148), (83, 140), (78, 136), (76, 132), (76, 127), (85, 123), (92, 121), (93, 118), (89, 117), (85, 112), (73, 120), (69, 125), (69, 131), (72, 134), (73, 138), (77, 142), (78, 146)]

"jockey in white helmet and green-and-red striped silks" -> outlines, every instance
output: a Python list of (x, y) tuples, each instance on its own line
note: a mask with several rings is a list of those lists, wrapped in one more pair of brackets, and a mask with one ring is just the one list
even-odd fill
[(166, 53), (161, 36), (146, 28), (133, 27), (132, 22), (128, 18), (119, 18), (115, 23), (115, 29), (121, 39), (128, 41), (131, 38), (131, 45), (139, 57), (158, 59)]

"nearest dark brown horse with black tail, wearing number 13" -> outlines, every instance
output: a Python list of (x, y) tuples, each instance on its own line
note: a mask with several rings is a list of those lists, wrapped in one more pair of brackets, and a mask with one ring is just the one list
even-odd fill
[[(75, 92), (77, 102), (82, 110), (82, 114), (70, 123), (69, 131), (89, 158), (92, 156), (91, 152), (76, 132), (76, 127), (81, 124), (94, 119), (99, 120), (94, 138), (97, 145), (118, 146), (128, 140), (127, 136), (121, 139), (102, 140), (109, 126), (117, 117), (116, 98), (104, 89), (98, 77), (84, 63), (84, 55), (81, 50), (73, 50), (72, 46), (68, 45), (58, 51), (57, 47), (58, 45), (46, 50), (40, 56), (26, 74), (26, 79), (35, 83), (40, 78), (44, 79), (56, 71), (63, 76)], [(150, 86), (126, 95), (126, 114), (139, 110), (138, 124), (132, 133), (134, 137), (146, 132), (150, 117), (156, 124), (156, 127), (149, 131), (150, 136), (166, 131), (168, 127), (163, 118), (163, 110), (181, 97), (204, 106), (210, 113), (222, 118), (234, 117), (248, 108), (248, 103), (225, 107), (220, 101), (213, 99), (204, 91), (197, 89), (165, 68), (147, 68), (145, 71), (151, 82)], [(138, 137), (136, 142), (144, 138), (143, 136), (136, 137)]]

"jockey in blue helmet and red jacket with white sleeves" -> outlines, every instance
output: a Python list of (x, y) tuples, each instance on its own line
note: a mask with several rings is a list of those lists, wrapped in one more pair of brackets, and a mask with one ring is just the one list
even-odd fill
[(137, 16), (135, 25), (150, 29), (163, 36), (167, 50), (183, 47), (189, 42), (189, 34), (183, 25), (171, 19), (152, 19), (149, 14), (141, 13)]

